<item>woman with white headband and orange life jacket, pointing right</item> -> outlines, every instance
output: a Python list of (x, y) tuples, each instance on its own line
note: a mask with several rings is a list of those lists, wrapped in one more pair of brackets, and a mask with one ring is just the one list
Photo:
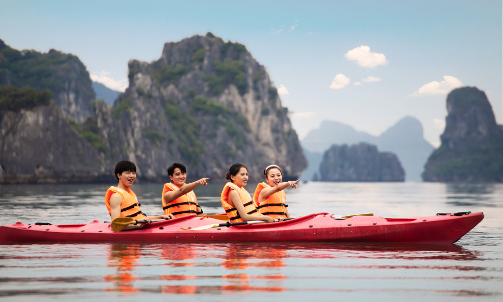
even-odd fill
[(257, 209), (260, 213), (273, 218), (290, 218), (286, 204), (286, 195), (283, 192), (288, 186), (297, 188), (297, 182), (281, 182), (283, 176), (280, 167), (270, 165), (264, 170), (267, 183), (260, 183), (255, 189), (253, 200), (259, 204)]

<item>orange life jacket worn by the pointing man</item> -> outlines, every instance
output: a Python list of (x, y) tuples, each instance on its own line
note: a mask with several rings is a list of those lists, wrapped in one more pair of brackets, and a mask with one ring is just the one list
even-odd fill
[(174, 183), (164, 184), (164, 188), (162, 189), (162, 209), (164, 210), (164, 214), (173, 214), (173, 216), (175, 217), (182, 217), (190, 214), (203, 213), (202, 210), (200, 212), (197, 211), (198, 204), (194, 191), (190, 191), (189, 193), (166, 203), (166, 201), (164, 200), (164, 194), (166, 192), (176, 190), (179, 190), (179, 188)]

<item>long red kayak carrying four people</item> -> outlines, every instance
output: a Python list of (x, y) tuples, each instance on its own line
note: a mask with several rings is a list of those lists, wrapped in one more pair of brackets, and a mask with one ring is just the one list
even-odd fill
[[(191, 230), (223, 221), (184, 216), (152, 222), (138, 230), (115, 232), (110, 222), (0, 226), (0, 243), (13, 242), (406, 242), (454, 243), (475, 227), (482, 212), (459, 212), (410, 218), (328, 213), (288, 221)], [(188, 229), (188, 230), (182, 230)]]

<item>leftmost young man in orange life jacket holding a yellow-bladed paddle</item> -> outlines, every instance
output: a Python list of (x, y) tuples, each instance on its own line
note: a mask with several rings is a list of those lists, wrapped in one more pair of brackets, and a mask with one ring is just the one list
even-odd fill
[[(117, 187), (110, 187), (105, 194), (105, 204), (112, 220), (117, 217), (130, 217), (135, 220), (171, 219), (172, 214), (147, 216), (140, 209), (136, 194), (129, 188), (136, 179), (136, 165), (130, 161), (121, 161), (115, 166), (115, 176), (119, 180)], [(128, 225), (125, 230), (141, 228), (144, 224)]]

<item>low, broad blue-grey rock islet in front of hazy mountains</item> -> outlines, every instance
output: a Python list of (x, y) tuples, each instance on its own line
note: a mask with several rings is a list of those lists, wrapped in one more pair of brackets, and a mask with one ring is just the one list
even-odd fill
[(396, 155), (378, 152), (375, 145), (332, 145), (323, 154), (318, 181), (397, 182), (405, 173)]

